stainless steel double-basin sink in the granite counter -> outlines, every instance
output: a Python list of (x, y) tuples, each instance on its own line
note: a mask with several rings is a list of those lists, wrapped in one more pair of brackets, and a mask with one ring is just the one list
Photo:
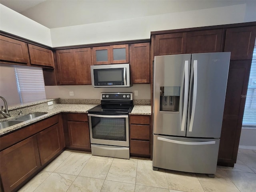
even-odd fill
[(31, 113), (31, 114), (28, 114), (28, 115), (17, 117), (17, 118), (12, 119), (12, 120), (0, 122), (0, 129), (16, 125), (18, 123), (21, 123), (21, 122), (24, 122), (24, 121), (42, 116), (44, 114), (46, 114), (46, 112)]

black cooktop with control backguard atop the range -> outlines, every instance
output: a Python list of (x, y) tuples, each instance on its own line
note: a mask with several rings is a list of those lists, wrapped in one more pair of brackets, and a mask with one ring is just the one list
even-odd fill
[(132, 93), (101, 93), (101, 104), (88, 110), (89, 114), (128, 114), (132, 111)]

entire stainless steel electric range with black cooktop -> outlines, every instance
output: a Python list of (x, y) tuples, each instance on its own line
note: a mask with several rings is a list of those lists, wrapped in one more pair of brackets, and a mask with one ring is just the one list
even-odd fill
[(132, 93), (101, 93), (101, 104), (88, 110), (92, 155), (130, 158), (132, 108)]

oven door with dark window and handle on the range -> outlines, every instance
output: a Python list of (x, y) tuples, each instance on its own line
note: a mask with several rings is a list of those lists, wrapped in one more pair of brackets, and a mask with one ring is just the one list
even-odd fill
[(129, 147), (128, 115), (88, 114), (91, 144)]

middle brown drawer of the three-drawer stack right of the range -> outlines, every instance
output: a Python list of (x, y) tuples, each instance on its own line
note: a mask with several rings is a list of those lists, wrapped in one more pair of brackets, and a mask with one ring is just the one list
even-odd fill
[(149, 125), (130, 125), (130, 138), (134, 140), (150, 140)]

